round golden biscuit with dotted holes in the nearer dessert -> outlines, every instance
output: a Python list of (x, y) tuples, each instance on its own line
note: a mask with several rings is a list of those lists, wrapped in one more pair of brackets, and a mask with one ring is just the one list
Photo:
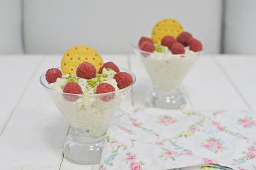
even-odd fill
[(76, 68), (83, 62), (93, 64), (97, 72), (103, 65), (103, 59), (95, 49), (88, 46), (74, 46), (62, 57), (61, 71), (63, 74), (75, 74)]

